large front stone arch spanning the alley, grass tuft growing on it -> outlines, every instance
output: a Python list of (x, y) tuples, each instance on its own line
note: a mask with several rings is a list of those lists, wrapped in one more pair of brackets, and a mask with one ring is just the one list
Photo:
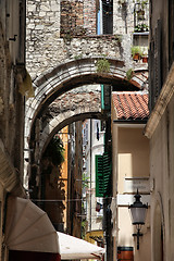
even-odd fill
[[(52, 71), (34, 80), (35, 98), (30, 98), (26, 102), (25, 149), (28, 149), (28, 140), (36, 119), (59, 95), (85, 84), (115, 84), (117, 80), (126, 79), (126, 69), (123, 61), (108, 58), (110, 70), (101, 73), (97, 71), (99, 59), (103, 58), (71, 60), (59, 64)], [(144, 89), (147, 78), (135, 74), (129, 82), (137, 89)]]

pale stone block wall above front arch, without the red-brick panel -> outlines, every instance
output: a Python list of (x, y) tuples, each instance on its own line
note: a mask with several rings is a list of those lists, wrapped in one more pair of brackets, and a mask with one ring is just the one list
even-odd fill
[[(54, 18), (54, 22), (46, 23), (50, 18), (50, 11), (40, 17), (42, 7), (38, 7), (38, 11), (36, 9), (35, 12), (27, 11), (26, 64), (33, 78), (72, 59), (107, 55), (123, 60), (117, 37), (79, 36), (60, 38), (59, 22)], [(28, 10), (32, 10), (29, 4)]]

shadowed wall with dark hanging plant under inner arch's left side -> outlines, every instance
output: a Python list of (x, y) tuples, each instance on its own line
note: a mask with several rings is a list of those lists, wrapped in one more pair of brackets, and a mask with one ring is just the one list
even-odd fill
[(57, 231), (64, 232), (65, 182), (61, 164), (64, 161), (61, 139), (53, 138), (47, 147), (40, 166), (32, 167), (30, 198), (47, 212)]

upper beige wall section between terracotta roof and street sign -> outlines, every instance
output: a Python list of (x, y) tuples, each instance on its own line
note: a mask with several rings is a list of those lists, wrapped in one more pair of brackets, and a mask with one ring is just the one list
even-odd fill
[(142, 134), (144, 126), (125, 125), (117, 129), (117, 190), (123, 194), (125, 177), (149, 176), (149, 140)]

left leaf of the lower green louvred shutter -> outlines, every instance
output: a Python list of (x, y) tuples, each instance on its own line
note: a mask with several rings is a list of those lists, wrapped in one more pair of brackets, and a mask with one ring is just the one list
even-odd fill
[(96, 156), (96, 197), (103, 197), (103, 157)]

